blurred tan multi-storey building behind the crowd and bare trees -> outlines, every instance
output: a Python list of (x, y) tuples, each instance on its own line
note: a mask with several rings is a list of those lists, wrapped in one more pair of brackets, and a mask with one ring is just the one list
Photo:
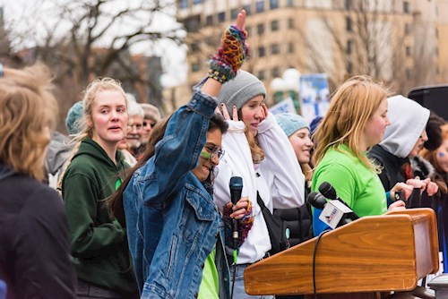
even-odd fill
[(327, 73), (331, 90), (352, 75), (368, 74), (407, 94), (417, 85), (448, 81), (448, 18), (442, 13), (448, 11), (447, 3), (180, 0), (177, 21), (187, 30), (185, 84), (191, 87), (201, 80), (221, 32), (245, 9), (251, 58), (244, 69), (268, 90), (272, 79), (296, 68), (300, 73)]

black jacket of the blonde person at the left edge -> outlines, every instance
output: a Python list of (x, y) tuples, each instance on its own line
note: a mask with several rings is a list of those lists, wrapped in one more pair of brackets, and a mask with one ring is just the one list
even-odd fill
[(7, 298), (74, 298), (68, 226), (56, 191), (0, 165), (0, 279)]

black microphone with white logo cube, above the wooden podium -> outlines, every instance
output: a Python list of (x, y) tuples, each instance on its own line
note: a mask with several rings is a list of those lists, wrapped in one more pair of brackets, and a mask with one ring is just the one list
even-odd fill
[(319, 219), (332, 229), (346, 225), (352, 221), (349, 218), (353, 212), (349, 207), (343, 205), (340, 201), (327, 201), (319, 192), (311, 192), (306, 199), (315, 209), (322, 209)]

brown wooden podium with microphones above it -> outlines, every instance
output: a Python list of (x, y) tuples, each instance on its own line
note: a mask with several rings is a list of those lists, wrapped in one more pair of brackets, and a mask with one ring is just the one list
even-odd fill
[[(317, 237), (245, 270), (250, 295), (313, 295)], [(315, 255), (320, 298), (378, 298), (413, 290), (439, 267), (435, 213), (406, 209), (359, 218), (323, 235)]]

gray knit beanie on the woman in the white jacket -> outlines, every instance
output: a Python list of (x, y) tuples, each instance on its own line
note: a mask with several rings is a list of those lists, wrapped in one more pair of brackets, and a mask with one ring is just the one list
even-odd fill
[(248, 100), (258, 95), (263, 95), (266, 98), (267, 92), (263, 82), (252, 73), (240, 70), (233, 80), (222, 85), (218, 103), (226, 104), (228, 114), (231, 116), (234, 105), (239, 110)]

